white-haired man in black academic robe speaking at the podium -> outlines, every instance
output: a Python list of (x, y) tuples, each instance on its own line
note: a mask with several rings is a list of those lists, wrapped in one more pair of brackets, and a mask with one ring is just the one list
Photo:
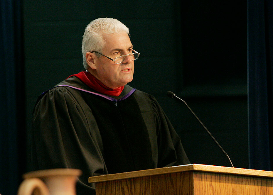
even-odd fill
[(88, 177), (188, 164), (180, 138), (153, 96), (133, 89), (129, 29), (98, 18), (82, 40), (86, 71), (38, 99), (32, 123), (32, 170), (83, 171), (77, 194), (95, 194)]

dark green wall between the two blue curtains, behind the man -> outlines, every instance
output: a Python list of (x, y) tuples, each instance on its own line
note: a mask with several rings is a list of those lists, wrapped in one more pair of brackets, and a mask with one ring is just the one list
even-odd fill
[(229, 166), (184, 98), (230, 155), (248, 168), (246, 2), (23, 1), (26, 129), (39, 94), (82, 70), (84, 28), (112, 17), (141, 53), (130, 83), (153, 94), (192, 163)]

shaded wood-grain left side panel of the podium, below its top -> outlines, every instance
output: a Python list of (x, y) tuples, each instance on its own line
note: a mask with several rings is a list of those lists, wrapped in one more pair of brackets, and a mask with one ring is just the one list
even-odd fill
[(96, 184), (98, 195), (193, 194), (192, 173), (180, 172)]

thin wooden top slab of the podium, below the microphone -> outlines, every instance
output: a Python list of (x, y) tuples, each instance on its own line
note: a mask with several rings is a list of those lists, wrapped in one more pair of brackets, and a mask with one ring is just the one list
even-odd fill
[(133, 172), (124, 172), (108, 175), (93, 176), (88, 178), (89, 183), (98, 183), (106, 182), (120, 179), (130, 179), (135, 177), (145, 177), (152, 175), (161, 175), (177, 172), (212, 172), (219, 174), (237, 174), (237, 175), (248, 175), (248, 176), (257, 176), (257, 177), (272, 177), (272, 171), (262, 171), (254, 169), (242, 169), (242, 168), (233, 168), (233, 167), (221, 167), (215, 165), (200, 165), (200, 164), (189, 164), (189, 165), (179, 165), (174, 167), (163, 167), (157, 169), (147, 169)]

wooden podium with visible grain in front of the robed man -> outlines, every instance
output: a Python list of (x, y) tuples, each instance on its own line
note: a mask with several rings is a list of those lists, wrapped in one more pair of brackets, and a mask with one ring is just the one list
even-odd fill
[(273, 195), (273, 172), (181, 165), (88, 178), (96, 195)]

